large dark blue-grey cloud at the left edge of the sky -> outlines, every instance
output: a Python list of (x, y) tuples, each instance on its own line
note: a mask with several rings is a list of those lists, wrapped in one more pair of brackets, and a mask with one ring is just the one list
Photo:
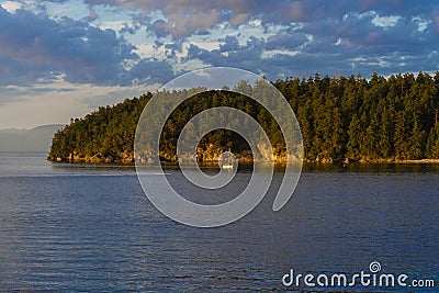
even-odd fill
[(124, 76), (121, 61), (135, 59), (133, 46), (112, 30), (81, 21), (0, 8), (1, 83), (34, 82), (64, 72), (77, 83), (114, 84)]

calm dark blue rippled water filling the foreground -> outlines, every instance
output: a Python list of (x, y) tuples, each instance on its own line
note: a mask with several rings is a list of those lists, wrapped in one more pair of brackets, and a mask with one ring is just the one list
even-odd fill
[[(371, 261), (436, 289), (338, 292), (439, 290), (438, 166), (305, 167), (280, 212), (271, 211), (274, 184), (248, 216), (201, 229), (156, 211), (132, 167), (45, 156), (0, 153), (1, 292), (327, 292), (335, 289), (286, 288), (281, 278), (369, 272)], [(178, 170), (168, 173), (200, 195)], [(238, 172), (230, 188), (249, 176)]]

